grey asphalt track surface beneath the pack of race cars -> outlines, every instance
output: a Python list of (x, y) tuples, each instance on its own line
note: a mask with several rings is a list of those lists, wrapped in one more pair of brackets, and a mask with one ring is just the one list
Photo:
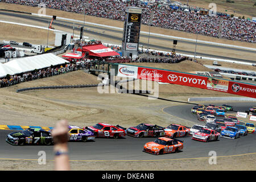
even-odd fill
[[(225, 103), (226, 104), (226, 103)], [(236, 103), (234, 110), (245, 111), (255, 102)], [(166, 107), (163, 114), (175, 115), (182, 119), (189, 119), (195, 123), (196, 116), (191, 114), (193, 105), (181, 105)], [(139, 124), (139, 123), (138, 123)], [(203, 124), (203, 123), (201, 123)], [(166, 126), (164, 126), (166, 127)], [(37, 160), (38, 152), (45, 151), (46, 159), (52, 160), (53, 146), (12, 146), (5, 141), (7, 134), (13, 131), (0, 130), (0, 159), (28, 159)], [(209, 157), (210, 151), (216, 151), (217, 156), (232, 156), (249, 154), (256, 152), (255, 139), (256, 134), (248, 134), (245, 137), (237, 139), (218, 138), (216, 142), (199, 142), (191, 140), (191, 137), (179, 138), (184, 140), (184, 148), (181, 152), (164, 155), (151, 155), (142, 152), (143, 145), (146, 142), (154, 141), (155, 138), (134, 138), (126, 136), (125, 138), (96, 138), (92, 142), (69, 142), (70, 160), (172, 160), (172, 159), (191, 159)]]

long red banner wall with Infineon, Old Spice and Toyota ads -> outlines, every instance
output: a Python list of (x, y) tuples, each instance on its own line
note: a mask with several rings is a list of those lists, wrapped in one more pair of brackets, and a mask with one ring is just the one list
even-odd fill
[(201, 89), (215, 90), (218, 92), (256, 98), (256, 85), (246, 84), (244, 82), (234, 82), (216, 77), (200, 76), (192, 73), (188, 74), (166, 69), (118, 64), (117, 76), (192, 86)]

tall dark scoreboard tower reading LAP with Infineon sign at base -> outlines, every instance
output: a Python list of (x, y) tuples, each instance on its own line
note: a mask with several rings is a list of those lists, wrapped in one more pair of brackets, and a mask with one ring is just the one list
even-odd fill
[(142, 9), (126, 7), (123, 26), (122, 55), (137, 57), (139, 49), (139, 34), (141, 32)]

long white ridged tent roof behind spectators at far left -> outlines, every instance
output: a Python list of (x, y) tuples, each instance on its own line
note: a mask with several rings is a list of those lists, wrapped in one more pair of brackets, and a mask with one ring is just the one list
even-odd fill
[[(45, 53), (42, 55), (24, 57), (15, 59), (5, 63), (9, 68), (13, 69), (14, 74), (34, 71), (35, 69), (42, 69), (51, 67), (51, 65), (59, 65), (69, 63), (69, 61), (53, 55), (52, 53)], [(10, 74), (10, 73), (7, 73)], [(10, 75), (14, 75), (10, 74)]]

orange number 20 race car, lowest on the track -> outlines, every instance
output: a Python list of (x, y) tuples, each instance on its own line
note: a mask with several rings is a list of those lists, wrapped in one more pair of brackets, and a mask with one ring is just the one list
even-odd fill
[(148, 142), (143, 146), (143, 152), (154, 155), (168, 154), (172, 152), (179, 152), (183, 149), (183, 141), (177, 139), (170, 139), (160, 137), (154, 142)]

